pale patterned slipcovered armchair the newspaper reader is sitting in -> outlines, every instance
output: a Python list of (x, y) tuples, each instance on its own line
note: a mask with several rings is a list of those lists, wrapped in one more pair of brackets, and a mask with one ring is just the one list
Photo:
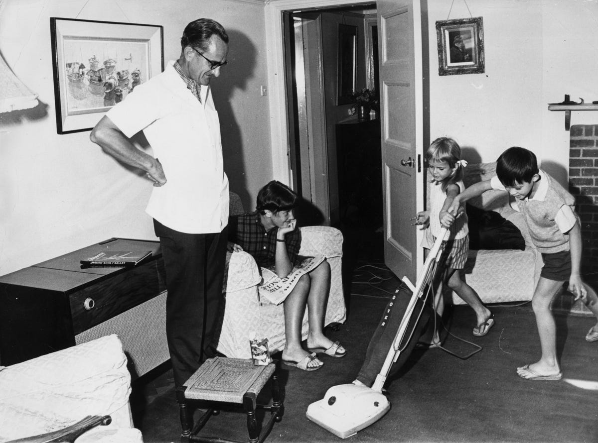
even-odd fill
[[(239, 196), (231, 193), (230, 214), (245, 213)], [(304, 226), (301, 230), (302, 256), (324, 255), (330, 264), (331, 285), (324, 325), (343, 323), (346, 319), (341, 266), (343, 234), (329, 226)], [(216, 350), (231, 358), (251, 358), (249, 340), (268, 339), (271, 353), (285, 347), (283, 304), (272, 304), (260, 297), (258, 285), (262, 281), (260, 267), (246, 252), (227, 253), (225, 306), (222, 329)], [(307, 338), (307, 308), (301, 334)]]

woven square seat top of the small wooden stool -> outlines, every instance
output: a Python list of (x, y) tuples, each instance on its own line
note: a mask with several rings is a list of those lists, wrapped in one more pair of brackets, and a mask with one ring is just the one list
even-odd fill
[(276, 365), (256, 366), (251, 360), (215, 357), (207, 360), (185, 383), (185, 397), (194, 400), (243, 403), (270, 380)]

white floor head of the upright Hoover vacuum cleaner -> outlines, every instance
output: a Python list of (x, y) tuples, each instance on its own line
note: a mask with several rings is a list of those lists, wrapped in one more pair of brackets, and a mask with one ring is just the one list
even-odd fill
[(307, 407), (306, 416), (340, 438), (355, 435), (390, 409), (381, 392), (366, 386), (339, 384), (327, 390), (323, 399)]

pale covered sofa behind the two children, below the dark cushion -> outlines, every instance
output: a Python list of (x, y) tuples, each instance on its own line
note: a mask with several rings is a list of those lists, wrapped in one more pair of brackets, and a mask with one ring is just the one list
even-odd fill
[[(463, 182), (468, 187), (495, 175), (496, 162), (469, 164), (465, 168)], [(470, 248), (464, 270), (465, 281), (474, 288), (484, 303), (531, 300), (540, 278), (542, 255), (532, 244), (523, 215), (516, 210), (514, 198), (507, 192), (489, 190), (480, 197), (469, 200), (467, 204), (484, 211), (495, 211), (514, 224), (523, 236), (525, 250)], [(475, 229), (477, 226), (470, 220), (470, 232)], [(454, 304), (465, 303), (454, 293), (452, 298)]]

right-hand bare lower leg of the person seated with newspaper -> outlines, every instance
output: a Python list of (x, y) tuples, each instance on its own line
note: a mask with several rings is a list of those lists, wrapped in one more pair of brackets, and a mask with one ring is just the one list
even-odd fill
[[(309, 333), (307, 333), (307, 347), (328, 349), (332, 340), (324, 335), (324, 318), (330, 293), (330, 264), (324, 260), (316, 269), (309, 273), (311, 288), (307, 296), (307, 316), (309, 319)], [(344, 348), (340, 346), (338, 352)]]

